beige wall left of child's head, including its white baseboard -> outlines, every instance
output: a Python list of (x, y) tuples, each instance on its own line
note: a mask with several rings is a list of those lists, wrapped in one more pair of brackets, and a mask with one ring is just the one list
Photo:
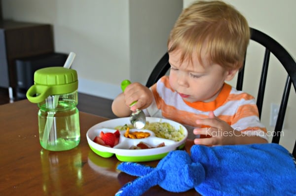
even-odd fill
[(182, 8), (181, 0), (2, 0), (4, 19), (52, 24), (55, 50), (76, 53), (78, 90), (110, 99), (123, 79), (146, 83)]

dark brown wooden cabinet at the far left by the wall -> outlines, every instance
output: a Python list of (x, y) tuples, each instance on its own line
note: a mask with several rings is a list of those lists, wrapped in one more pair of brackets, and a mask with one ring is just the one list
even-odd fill
[(50, 24), (0, 20), (0, 87), (16, 87), (15, 60), (54, 52)]

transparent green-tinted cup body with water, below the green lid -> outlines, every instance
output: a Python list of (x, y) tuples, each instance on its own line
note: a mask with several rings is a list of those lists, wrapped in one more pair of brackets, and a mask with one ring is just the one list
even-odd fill
[[(75, 94), (76, 92), (60, 95), (58, 105), (54, 109), (48, 107), (48, 102), (50, 102), (48, 100), (43, 105), (39, 105), (39, 139), (43, 148), (50, 151), (64, 151), (73, 149), (79, 144), (79, 113), (76, 108)], [(51, 97), (47, 99), (55, 99)]]

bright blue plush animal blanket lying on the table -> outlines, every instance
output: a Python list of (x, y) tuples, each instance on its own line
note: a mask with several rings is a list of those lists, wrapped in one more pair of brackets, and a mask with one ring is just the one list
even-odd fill
[(140, 177), (115, 196), (140, 196), (155, 185), (170, 192), (194, 188), (203, 196), (296, 195), (295, 158), (278, 144), (194, 145), (190, 154), (172, 151), (155, 168), (120, 163), (117, 169)]

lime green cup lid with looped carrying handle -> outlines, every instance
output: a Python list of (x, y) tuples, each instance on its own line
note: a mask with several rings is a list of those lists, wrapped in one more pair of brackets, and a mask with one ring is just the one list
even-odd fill
[(35, 72), (34, 83), (26, 96), (32, 103), (40, 103), (49, 95), (66, 94), (77, 90), (77, 72), (64, 67), (42, 68)]

